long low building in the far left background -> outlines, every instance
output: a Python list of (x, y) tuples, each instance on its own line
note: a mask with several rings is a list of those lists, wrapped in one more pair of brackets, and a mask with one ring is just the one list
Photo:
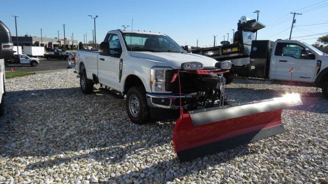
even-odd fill
[[(17, 45), (17, 38), (16, 36), (12, 36), (12, 42), (14, 45)], [(66, 49), (79, 49), (78, 48), (78, 41), (66, 39), (65, 40), (65, 48)], [(45, 48), (63, 48), (64, 47), (64, 39), (58, 38), (46, 38), (43, 37), (36, 37), (36, 36), (18, 36), (18, 46), (39, 46)]]

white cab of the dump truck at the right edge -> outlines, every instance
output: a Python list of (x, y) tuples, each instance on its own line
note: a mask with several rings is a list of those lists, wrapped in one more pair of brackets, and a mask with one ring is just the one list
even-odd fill
[(328, 55), (312, 45), (296, 40), (277, 40), (271, 54), (269, 78), (314, 83), (327, 67)]

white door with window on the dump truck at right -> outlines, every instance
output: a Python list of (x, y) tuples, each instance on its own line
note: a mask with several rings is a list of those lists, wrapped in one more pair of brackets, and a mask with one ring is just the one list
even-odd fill
[(293, 81), (312, 82), (316, 67), (316, 57), (298, 43), (279, 42), (276, 45), (276, 75), (277, 80), (291, 80), (289, 71), (293, 68)]

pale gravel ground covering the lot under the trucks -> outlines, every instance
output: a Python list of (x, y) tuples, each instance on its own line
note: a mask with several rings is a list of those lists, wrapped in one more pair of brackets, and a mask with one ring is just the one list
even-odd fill
[(304, 105), (283, 110), (286, 132), (179, 163), (174, 120), (132, 124), (125, 100), (98, 86), (83, 95), (72, 70), (6, 81), (0, 124), (2, 182), (322, 182), (328, 179), (328, 101), (321, 89), (235, 80), (237, 102), (302, 94)]

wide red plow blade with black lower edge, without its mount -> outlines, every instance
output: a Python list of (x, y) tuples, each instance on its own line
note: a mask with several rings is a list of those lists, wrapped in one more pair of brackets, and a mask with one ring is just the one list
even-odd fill
[(282, 133), (282, 109), (302, 104), (298, 95), (286, 95), (185, 112), (173, 130), (174, 151), (185, 162)]

